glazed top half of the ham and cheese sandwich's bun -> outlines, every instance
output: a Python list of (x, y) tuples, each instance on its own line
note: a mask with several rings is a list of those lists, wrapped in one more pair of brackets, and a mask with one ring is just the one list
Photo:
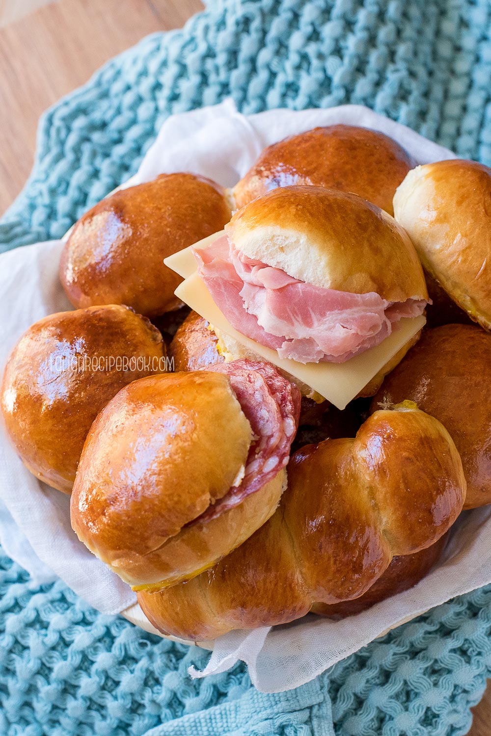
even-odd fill
[(405, 231), (355, 194), (275, 189), (239, 210), (225, 230), (247, 258), (321, 289), (375, 291), (389, 302), (428, 297)]

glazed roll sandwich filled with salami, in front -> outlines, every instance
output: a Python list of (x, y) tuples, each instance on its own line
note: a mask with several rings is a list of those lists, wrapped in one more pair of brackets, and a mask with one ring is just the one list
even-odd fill
[(266, 363), (131, 383), (88, 434), (74, 531), (135, 590), (197, 575), (275, 511), (299, 408)]

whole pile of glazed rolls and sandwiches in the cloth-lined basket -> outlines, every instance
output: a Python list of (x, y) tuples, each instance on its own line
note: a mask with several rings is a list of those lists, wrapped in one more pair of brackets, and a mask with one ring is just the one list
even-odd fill
[[(416, 166), (336, 125), (269, 146), (231, 190), (163, 174), (74, 225), (74, 311), (13, 348), (4, 425), (159, 631), (355, 615), (491, 503), (490, 201), (485, 166)], [(163, 261), (188, 247), (234, 336), (174, 294)], [(347, 370), (423, 315), (344, 409), (282, 367)]]

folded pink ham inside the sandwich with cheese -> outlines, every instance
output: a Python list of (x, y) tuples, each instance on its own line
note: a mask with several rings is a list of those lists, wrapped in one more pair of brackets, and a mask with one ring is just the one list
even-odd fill
[(342, 363), (375, 347), (425, 300), (387, 302), (379, 294), (322, 289), (247, 258), (227, 236), (194, 250), (198, 272), (233, 327), (280, 358)]

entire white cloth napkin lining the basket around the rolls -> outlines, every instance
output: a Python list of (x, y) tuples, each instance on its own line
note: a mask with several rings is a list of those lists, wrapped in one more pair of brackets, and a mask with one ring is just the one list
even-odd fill
[[(269, 144), (318, 125), (358, 124), (385, 132), (419, 163), (455, 158), (408, 128), (365, 107), (329, 110), (272, 110), (242, 116), (228, 100), (169, 118), (126, 185), (157, 174), (192, 171), (225, 186), (236, 183)], [(0, 256), (0, 366), (32, 322), (70, 308), (57, 277), (62, 243), (50, 241)], [(68, 440), (69, 441), (69, 438)], [(5, 551), (37, 581), (60, 576), (72, 590), (104, 613), (121, 612), (135, 595), (78, 542), (71, 531), (68, 497), (38, 482), (0, 434), (0, 539)], [(462, 514), (445, 556), (416, 587), (333, 622), (313, 615), (256, 631), (234, 631), (216, 640), (204, 676), (243, 659), (259, 690), (297, 687), (378, 637), (454, 595), (491, 582), (491, 507)]]

